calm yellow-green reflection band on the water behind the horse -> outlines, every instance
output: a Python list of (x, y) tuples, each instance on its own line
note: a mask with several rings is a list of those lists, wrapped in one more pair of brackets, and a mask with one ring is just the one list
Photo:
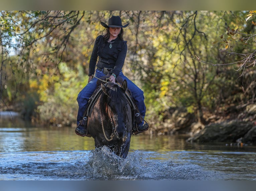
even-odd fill
[[(256, 151), (255, 146), (243, 147), (229, 143), (198, 144), (186, 142), (186, 135), (133, 135), (131, 150), (220, 150)], [(0, 127), (0, 152), (92, 150), (94, 139), (75, 134), (71, 127)]]

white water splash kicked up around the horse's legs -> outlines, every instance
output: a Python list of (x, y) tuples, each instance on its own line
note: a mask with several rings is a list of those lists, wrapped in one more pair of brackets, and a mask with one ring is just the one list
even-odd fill
[(92, 179), (133, 180), (138, 179), (147, 157), (139, 151), (134, 151), (124, 159), (104, 146), (91, 151), (87, 165)]

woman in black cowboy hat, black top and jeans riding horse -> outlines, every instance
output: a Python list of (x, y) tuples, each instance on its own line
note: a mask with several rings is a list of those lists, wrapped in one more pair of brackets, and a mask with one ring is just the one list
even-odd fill
[[(89, 64), (88, 84), (78, 94), (77, 97), (79, 105), (77, 116), (78, 127), (76, 128), (75, 132), (80, 136), (85, 136), (87, 134), (87, 128), (84, 127), (84, 125), (80, 125), (80, 121), (83, 119), (83, 114), (90, 96), (97, 88), (97, 78), (101, 78), (102, 76), (107, 75), (109, 72), (111, 74), (109, 79), (110, 82), (115, 83), (115, 79), (117, 76), (127, 81), (127, 87), (130, 89), (133, 98), (138, 106), (140, 115), (143, 118), (146, 112), (143, 91), (140, 90), (122, 73), (122, 68), (127, 53), (127, 41), (123, 40), (123, 28), (127, 27), (129, 23), (122, 26), (121, 18), (119, 16), (112, 16), (109, 19), (108, 25), (103, 22), (101, 22), (101, 25), (106, 28), (107, 33), (104, 36), (98, 36), (95, 40)], [(94, 75), (95, 73), (95, 67), (97, 67), (95, 74), (95, 77), (97, 78), (92, 78), (92, 75)], [(144, 123), (144, 121), (140, 122), (137, 125), (139, 131), (144, 131), (148, 129), (148, 124)]]

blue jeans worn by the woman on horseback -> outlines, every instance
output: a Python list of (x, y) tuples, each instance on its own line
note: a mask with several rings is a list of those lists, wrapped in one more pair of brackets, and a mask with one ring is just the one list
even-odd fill
[[(105, 76), (102, 71), (96, 70), (95, 77), (101, 78), (102, 76)], [(144, 118), (145, 113), (146, 113), (146, 106), (144, 103), (144, 93), (143, 91), (138, 88), (131, 80), (129, 80), (126, 76), (124, 76), (123, 72), (121, 71), (119, 73), (119, 76), (127, 81), (127, 87), (130, 89), (133, 99), (135, 103), (138, 106), (139, 112)], [(97, 78), (93, 78), (81, 92), (77, 96), (77, 102), (78, 102), (78, 114), (77, 114), (77, 124), (79, 124), (79, 121), (83, 118), (84, 111), (86, 109), (86, 105), (88, 103), (89, 98), (92, 96), (93, 92), (97, 88)]]

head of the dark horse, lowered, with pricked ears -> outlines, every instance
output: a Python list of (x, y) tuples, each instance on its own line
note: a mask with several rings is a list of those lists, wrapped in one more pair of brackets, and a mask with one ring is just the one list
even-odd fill
[(112, 126), (115, 128), (115, 135), (120, 139), (124, 139), (126, 135), (126, 116), (128, 110), (128, 102), (125, 95), (127, 82), (124, 80), (121, 87), (113, 83), (107, 83), (107, 85), (102, 84), (101, 88), (108, 97), (106, 111)]

